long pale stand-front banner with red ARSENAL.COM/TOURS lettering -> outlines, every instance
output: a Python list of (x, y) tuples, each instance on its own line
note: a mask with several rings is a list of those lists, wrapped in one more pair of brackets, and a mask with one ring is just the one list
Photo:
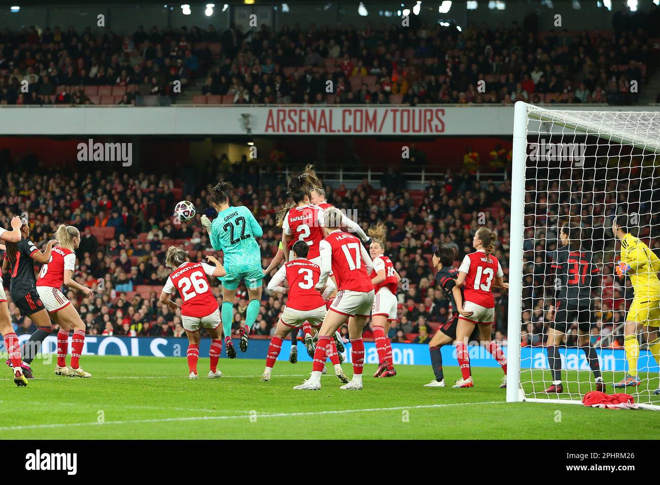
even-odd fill
[[(548, 106), (550, 108), (550, 106)], [(554, 107), (552, 107), (554, 108)], [(562, 110), (580, 106), (561, 105)], [(590, 106), (642, 111), (644, 106)], [(424, 137), (513, 133), (513, 106), (310, 105), (5, 106), (3, 135), (357, 135)]]

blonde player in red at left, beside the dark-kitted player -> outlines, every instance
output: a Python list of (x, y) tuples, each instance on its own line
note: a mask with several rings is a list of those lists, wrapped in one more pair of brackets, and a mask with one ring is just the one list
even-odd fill
[[(59, 245), (53, 247), (50, 259), (42, 266), (36, 284), (37, 293), (44, 302), (50, 319), (59, 325), (55, 375), (92, 377), (92, 374), (85, 372), (80, 366), (86, 325), (78, 311), (60, 290), (63, 285), (66, 285), (82, 292), (84, 296), (90, 297), (93, 294), (91, 288), (82, 286), (73, 279), (73, 272), (76, 269), (76, 254), (73, 250), (78, 249), (81, 243), (81, 233), (74, 226), (61, 224), (55, 232), (55, 239)], [(71, 330), (73, 330), (73, 335), (71, 338), (71, 367), (69, 367), (67, 366), (67, 351)]]

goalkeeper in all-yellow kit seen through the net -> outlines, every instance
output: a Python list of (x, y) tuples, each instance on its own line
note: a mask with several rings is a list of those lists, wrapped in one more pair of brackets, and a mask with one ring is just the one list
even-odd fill
[[(648, 342), (649, 350), (656, 362), (660, 363), (660, 259), (645, 243), (630, 234), (628, 216), (616, 216), (612, 224), (612, 232), (621, 240), (621, 261), (616, 263), (614, 270), (617, 275), (630, 276), (630, 282), (635, 292), (624, 328), (624, 349), (628, 360), (628, 375), (614, 384), (614, 387), (640, 385), (641, 379), (637, 372), (637, 360), (640, 355), (638, 335), (642, 331)], [(657, 389), (655, 394), (660, 394)]]

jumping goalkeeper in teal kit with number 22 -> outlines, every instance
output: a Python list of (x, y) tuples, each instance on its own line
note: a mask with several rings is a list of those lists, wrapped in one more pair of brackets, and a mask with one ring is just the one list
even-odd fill
[(246, 322), (241, 327), (240, 349), (248, 350), (249, 329), (254, 324), (261, 306), (261, 250), (255, 238), (260, 238), (263, 230), (247, 207), (232, 207), (229, 196), (233, 189), (229, 182), (218, 183), (211, 192), (211, 205), (218, 216), (211, 222), (207, 216), (201, 217), (216, 251), (224, 253), (223, 266), (227, 274), (222, 276), (222, 331), (227, 356), (236, 357), (232, 343), (232, 324), (234, 323), (234, 298), (241, 280), (248, 288), (249, 303), (246, 310)]

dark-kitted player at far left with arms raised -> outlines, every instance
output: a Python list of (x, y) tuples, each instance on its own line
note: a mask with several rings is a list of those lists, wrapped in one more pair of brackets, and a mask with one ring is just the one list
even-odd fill
[[(34, 277), (34, 261), (37, 263), (48, 263), (51, 250), (57, 244), (51, 240), (42, 252), (34, 243), (28, 240), (30, 236), (30, 225), (26, 219), (22, 219), (20, 226), (21, 239), (18, 242), (7, 242), (7, 252), (3, 260), (3, 271), (11, 271), (11, 282), (9, 283), (9, 294), (14, 304), (18, 307), (20, 315), (28, 316), (38, 327), (30, 339), (25, 342), (21, 349), (23, 356), (22, 370), (25, 377), (32, 378), (30, 364), (38, 354), (41, 344), (50, 334), (52, 327), (50, 317), (44, 303), (41, 301), (36, 289), (36, 278)], [(7, 360), (6, 364), (11, 366)]]

